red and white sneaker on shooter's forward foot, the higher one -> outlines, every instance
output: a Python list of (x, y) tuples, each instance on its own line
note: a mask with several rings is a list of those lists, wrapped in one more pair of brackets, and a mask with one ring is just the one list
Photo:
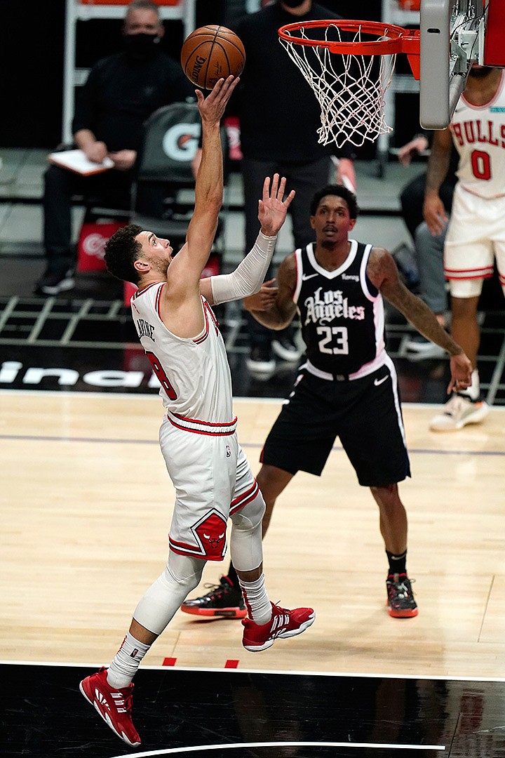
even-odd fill
[(242, 619), (244, 634), (242, 644), (245, 650), (256, 653), (267, 650), (276, 641), (276, 637), (296, 637), (313, 624), (316, 614), (312, 608), (279, 608), (272, 605), (272, 618), (267, 624), (255, 624), (251, 619)]

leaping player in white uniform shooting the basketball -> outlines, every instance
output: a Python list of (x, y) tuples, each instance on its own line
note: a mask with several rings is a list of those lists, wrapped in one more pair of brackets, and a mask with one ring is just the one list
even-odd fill
[(83, 695), (129, 745), (140, 738), (132, 723), (132, 678), (151, 644), (200, 581), (207, 560), (230, 550), (248, 618), (246, 650), (265, 650), (276, 637), (293, 637), (314, 619), (311, 608), (288, 610), (270, 602), (264, 585), (261, 520), (265, 504), (238, 445), (232, 383), (223, 337), (210, 305), (257, 292), (285, 221), (291, 191), (285, 179), (264, 182), (260, 233), (232, 274), (201, 280), (223, 202), (220, 118), (238, 79), (220, 80), (204, 99), (197, 90), (203, 152), (195, 186), (195, 211), (185, 244), (173, 256), (169, 240), (130, 225), (108, 241), (105, 262), (112, 274), (138, 284), (132, 315), (157, 375), (165, 406), (160, 444), (176, 490), (167, 566), (139, 601), (129, 631), (109, 669), (80, 683)]

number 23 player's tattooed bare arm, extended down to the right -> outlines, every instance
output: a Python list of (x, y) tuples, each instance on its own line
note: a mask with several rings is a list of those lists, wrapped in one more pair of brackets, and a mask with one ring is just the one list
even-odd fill
[(428, 305), (407, 290), (400, 280), (394, 258), (383, 248), (373, 248), (366, 274), (382, 295), (394, 305), (410, 324), (427, 340), (439, 345), (450, 355), (450, 382), (447, 394), (472, 383), (472, 364), (450, 334), (438, 323)]

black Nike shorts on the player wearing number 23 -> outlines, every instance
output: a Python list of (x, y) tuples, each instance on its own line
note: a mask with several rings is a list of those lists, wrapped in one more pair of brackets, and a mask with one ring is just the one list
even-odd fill
[(410, 476), (397, 374), (388, 357), (354, 381), (320, 379), (301, 367), (263, 446), (260, 461), (320, 476), (339, 437), (363, 487)]

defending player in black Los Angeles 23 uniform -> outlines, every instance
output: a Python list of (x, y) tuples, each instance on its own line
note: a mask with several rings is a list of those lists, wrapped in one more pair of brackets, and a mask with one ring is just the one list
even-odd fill
[[(340, 438), (358, 481), (379, 506), (388, 556), (388, 611), (417, 615), (407, 576), (407, 513), (397, 483), (410, 476), (397, 374), (385, 352), (382, 296), (410, 324), (450, 355), (447, 393), (468, 387), (472, 365), (428, 306), (401, 282), (391, 254), (349, 240), (357, 201), (344, 186), (320, 189), (310, 206), (316, 243), (282, 262), (273, 281), (245, 299), (245, 308), (271, 329), (283, 329), (298, 311), (307, 361), (263, 446), (257, 483), (267, 504), (263, 536), (273, 506), (297, 471), (320, 475)], [(231, 575), (231, 576), (230, 576)], [(245, 615), (232, 603), (234, 571), (215, 590), (186, 600), (182, 610)], [(237, 584), (238, 586), (238, 584)]]

